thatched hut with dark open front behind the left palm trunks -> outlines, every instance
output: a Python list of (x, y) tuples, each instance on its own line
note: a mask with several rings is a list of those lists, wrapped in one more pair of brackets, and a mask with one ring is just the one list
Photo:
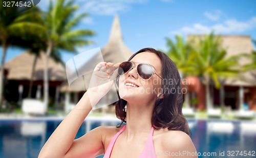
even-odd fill
[[(8, 102), (22, 101), (23, 98), (29, 97), (29, 87), (34, 67), (34, 75), (32, 77), (31, 98), (42, 99), (44, 85), (44, 61), (45, 53), (36, 56), (29, 52), (19, 54), (15, 58), (5, 63), (7, 70), (7, 83), (5, 89), (5, 98)], [(67, 79), (65, 66), (61, 62), (56, 62), (52, 58), (48, 60), (48, 76), (49, 76), (49, 101), (54, 104), (58, 101), (58, 88), (63, 81)]]

